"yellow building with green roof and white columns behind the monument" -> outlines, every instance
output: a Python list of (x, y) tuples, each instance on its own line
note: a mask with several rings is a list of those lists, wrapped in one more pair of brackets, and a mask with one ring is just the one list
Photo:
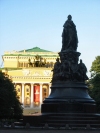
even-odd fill
[(4, 70), (15, 83), (23, 114), (41, 111), (42, 101), (50, 94), (52, 68), (58, 53), (34, 47), (5, 52)]

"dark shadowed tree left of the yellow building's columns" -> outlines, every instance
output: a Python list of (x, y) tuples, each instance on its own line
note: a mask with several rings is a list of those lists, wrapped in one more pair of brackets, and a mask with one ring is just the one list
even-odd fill
[(22, 113), (14, 84), (7, 74), (0, 71), (0, 118), (20, 118)]

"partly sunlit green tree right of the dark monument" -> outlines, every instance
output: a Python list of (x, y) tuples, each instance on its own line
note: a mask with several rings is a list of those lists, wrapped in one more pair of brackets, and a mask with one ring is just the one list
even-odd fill
[(100, 112), (100, 56), (92, 62), (90, 72), (89, 94), (96, 101), (97, 111)]

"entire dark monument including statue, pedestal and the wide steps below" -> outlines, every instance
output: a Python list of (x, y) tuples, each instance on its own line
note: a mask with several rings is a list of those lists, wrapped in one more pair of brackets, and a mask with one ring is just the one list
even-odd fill
[(41, 105), (41, 115), (29, 117), (30, 124), (44, 127), (99, 127), (100, 114), (88, 94), (87, 68), (77, 51), (77, 30), (72, 16), (63, 25), (62, 48), (52, 70), (51, 93)]

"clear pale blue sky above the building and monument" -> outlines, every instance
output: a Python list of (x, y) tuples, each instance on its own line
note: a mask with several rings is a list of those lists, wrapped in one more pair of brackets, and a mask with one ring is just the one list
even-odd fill
[(5, 51), (37, 46), (60, 52), (69, 14), (90, 76), (92, 62), (100, 56), (100, 0), (0, 0), (0, 67)]

